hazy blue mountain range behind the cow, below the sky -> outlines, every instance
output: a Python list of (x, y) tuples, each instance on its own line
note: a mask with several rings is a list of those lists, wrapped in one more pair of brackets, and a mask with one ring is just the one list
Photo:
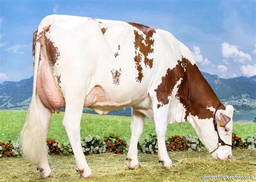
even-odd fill
[[(237, 110), (252, 110), (256, 106), (256, 75), (223, 79), (218, 75), (202, 72), (221, 102), (232, 104)], [(31, 101), (33, 77), (18, 82), (0, 83), (0, 109), (27, 109)], [(94, 111), (85, 108), (85, 113)], [(131, 115), (130, 108), (111, 111), (110, 115)]]

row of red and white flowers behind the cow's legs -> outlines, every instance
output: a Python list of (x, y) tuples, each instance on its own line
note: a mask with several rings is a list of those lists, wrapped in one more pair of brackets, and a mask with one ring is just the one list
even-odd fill
[[(87, 136), (82, 138), (81, 144), (85, 155), (91, 153), (126, 153), (128, 150), (128, 142), (114, 134), (101, 139), (99, 136)], [(233, 149), (255, 149), (256, 135), (250, 135), (246, 139), (232, 134)], [(48, 147), (49, 155), (72, 155), (73, 151), (69, 142), (59, 144), (54, 139), (47, 139), (46, 146)], [(184, 150), (206, 150), (205, 146), (200, 142), (198, 137), (194, 136), (171, 136), (167, 138), (166, 148), (168, 151), (184, 151)], [(150, 134), (145, 139), (140, 139), (138, 142), (138, 150), (143, 153), (157, 153), (158, 144), (156, 134)], [(16, 157), (21, 156), (18, 144), (13, 144), (11, 140), (7, 143), (0, 142), (0, 158), (1, 157)]]

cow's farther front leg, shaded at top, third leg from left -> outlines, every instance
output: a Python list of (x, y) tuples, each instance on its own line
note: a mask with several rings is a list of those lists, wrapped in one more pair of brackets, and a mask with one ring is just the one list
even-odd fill
[(132, 108), (132, 121), (131, 121), (131, 142), (127, 154), (127, 167), (129, 169), (136, 169), (140, 167), (138, 161), (138, 140), (142, 135), (144, 127), (145, 115)]

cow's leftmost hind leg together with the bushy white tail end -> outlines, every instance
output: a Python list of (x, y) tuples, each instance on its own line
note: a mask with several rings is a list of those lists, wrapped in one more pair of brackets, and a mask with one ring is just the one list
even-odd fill
[(21, 132), (21, 149), (25, 157), (37, 164), (37, 169), (42, 177), (51, 177), (46, 149), (46, 137), (51, 116), (51, 110), (44, 106), (36, 93), (32, 97), (26, 114), (26, 122)]

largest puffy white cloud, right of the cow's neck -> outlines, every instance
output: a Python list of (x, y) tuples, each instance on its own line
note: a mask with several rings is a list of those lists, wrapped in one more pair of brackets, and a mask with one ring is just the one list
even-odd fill
[(233, 58), (234, 61), (244, 63), (245, 60), (252, 60), (252, 57), (248, 53), (244, 53), (238, 50), (238, 46), (228, 43), (221, 44), (222, 56), (226, 59)]

